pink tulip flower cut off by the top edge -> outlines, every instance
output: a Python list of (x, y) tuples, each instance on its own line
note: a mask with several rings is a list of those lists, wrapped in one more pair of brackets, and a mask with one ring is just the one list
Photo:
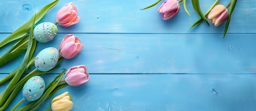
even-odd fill
[(180, 10), (180, 5), (177, 0), (166, 0), (159, 7), (158, 12), (162, 13), (162, 19), (167, 20), (175, 16)]

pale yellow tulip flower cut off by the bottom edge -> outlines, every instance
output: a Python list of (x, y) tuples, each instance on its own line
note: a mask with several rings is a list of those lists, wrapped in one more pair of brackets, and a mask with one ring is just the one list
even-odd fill
[(70, 101), (71, 96), (69, 92), (62, 93), (52, 99), (51, 109), (52, 111), (70, 111), (73, 108), (73, 102)]

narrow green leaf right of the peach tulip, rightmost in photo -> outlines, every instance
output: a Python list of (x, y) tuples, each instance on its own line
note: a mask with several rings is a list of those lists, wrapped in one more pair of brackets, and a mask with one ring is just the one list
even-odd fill
[(231, 14), (232, 14), (232, 12), (235, 9), (236, 1), (237, 0), (232, 0), (230, 6), (228, 8), (228, 20), (227, 20), (226, 25), (225, 25), (225, 29), (224, 29), (224, 33), (223, 33), (223, 38), (225, 37), (225, 35), (226, 35), (227, 31), (228, 31), (228, 25), (229, 25), (229, 22), (230, 22), (230, 19), (231, 19)]

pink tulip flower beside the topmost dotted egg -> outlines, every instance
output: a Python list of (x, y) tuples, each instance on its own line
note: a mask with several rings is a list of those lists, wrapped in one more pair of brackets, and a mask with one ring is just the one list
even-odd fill
[(63, 27), (68, 27), (79, 22), (80, 18), (77, 16), (77, 8), (70, 2), (63, 6), (56, 14), (56, 22)]

